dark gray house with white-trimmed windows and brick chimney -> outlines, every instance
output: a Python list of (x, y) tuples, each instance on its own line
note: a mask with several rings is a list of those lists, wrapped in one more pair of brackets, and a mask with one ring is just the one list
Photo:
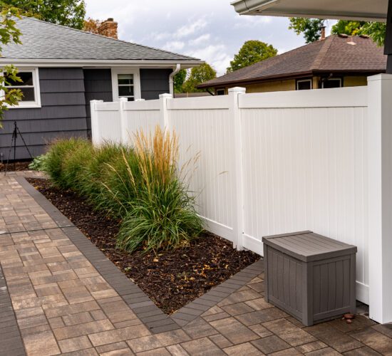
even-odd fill
[[(56, 137), (89, 137), (90, 100), (158, 99), (172, 93), (172, 76), (179, 68), (202, 61), (115, 39), (117, 23), (103, 23), (105, 36), (36, 19), (17, 21), (22, 45), (5, 46), (0, 68), (14, 64), (24, 93), (19, 106), (4, 115), (0, 129), (0, 159), (7, 159), (16, 120), (33, 156)], [(114, 37), (114, 38), (113, 38)], [(16, 159), (29, 158), (21, 140)]]

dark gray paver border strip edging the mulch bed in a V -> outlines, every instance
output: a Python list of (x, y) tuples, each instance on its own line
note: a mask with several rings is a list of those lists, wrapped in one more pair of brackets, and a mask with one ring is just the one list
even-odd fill
[(51, 216), (51, 219), (56, 222), (58, 228), (86, 256), (100, 275), (105, 278), (105, 281), (123, 298), (125, 303), (127, 303), (152, 333), (163, 333), (184, 327), (264, 271), (263, 261), (260, 259), (236, 273), (227, 281), (211, 288), (199, 298), (192, 300), (192, 302), (183, 306), (174, 314), (167, 315), (155, 305), (153, 300), (143, 290), (133, 283), (133, 281), (130, 281), (102, 251), (91, 243), (79, 231), (77, 226), (64, 216), (56, 206), (48, 201), (43, 194), (29, 184), (24, 177), (17, 176), (14, 178), (33, 197), (37, 204)]

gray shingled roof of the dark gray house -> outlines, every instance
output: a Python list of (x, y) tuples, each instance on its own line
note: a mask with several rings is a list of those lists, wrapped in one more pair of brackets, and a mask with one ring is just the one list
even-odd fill
[(23, 44), (4, 46), (1, 58), (21, 60), (198, 61), (197, 58), (115, 40), (37, 19), (18, 19)]

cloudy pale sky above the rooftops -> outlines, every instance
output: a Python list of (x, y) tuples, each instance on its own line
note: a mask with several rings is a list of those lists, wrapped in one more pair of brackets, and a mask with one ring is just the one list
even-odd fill
[(87, 16), (113, 17), (124, 41), (200, 58), (225, 73), (244, 41), (272, 44), (278, 53), (304, 45), (279, 17), (239, 16), (230, 0), (86, 0)]

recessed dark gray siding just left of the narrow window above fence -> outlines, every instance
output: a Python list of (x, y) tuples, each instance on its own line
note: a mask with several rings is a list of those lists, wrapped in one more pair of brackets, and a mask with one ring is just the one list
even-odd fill
[(112, 72), (110, 69), (84, 69), (84, 88), (88, 135), (91, 135), (91, 100), (113, 101)]

